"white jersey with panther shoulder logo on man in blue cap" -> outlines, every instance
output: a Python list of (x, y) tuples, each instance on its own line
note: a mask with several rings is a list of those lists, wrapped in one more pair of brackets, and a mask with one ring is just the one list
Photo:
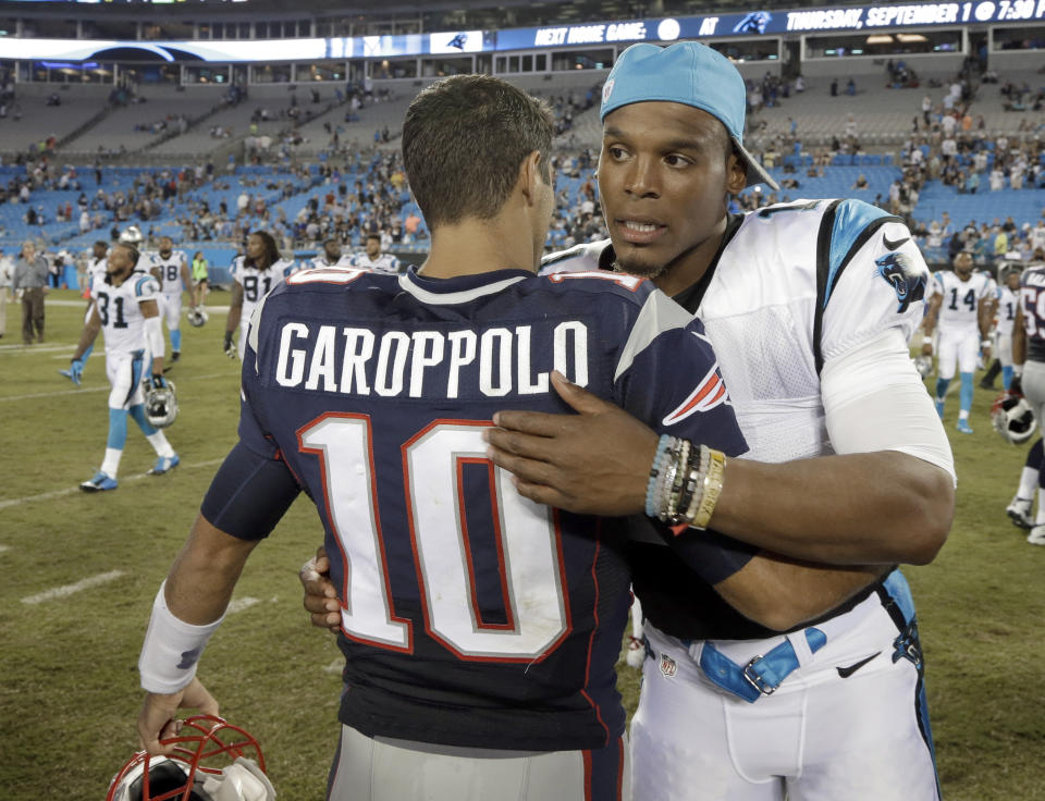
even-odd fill
[[(910, 340), (929, 268), (899, 218), (859, 200), (770, 206), (733, 218), (726, 236), (703, 297), (693, 287), (675, 299), (704, 323), (747, 456), (777, 463), (834, 453), (823, 363), (887, 329)], [(604, 269), (608, 245), (546, 257), (542, 272)]]

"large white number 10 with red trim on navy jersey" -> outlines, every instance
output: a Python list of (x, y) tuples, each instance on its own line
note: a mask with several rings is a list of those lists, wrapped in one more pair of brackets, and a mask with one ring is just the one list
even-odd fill
[[(557, 526), (551, 509), (519, 495), (508, 475), (485, 459), (487, 424), (435, 421), (403, 446), (425, 628), (462, 660), (532, 662), (569, 631)], [(392, 612), (369, 420), (324, 415), (298, 432), (298, 442), (320, 460), (329, 522), (345, 560), (342, 628), (357, 641), (411, 651), (411, 623)], [(484, 625), (476, 601), (462, 466), (477, 463), (490, 469), (507, 624)]]

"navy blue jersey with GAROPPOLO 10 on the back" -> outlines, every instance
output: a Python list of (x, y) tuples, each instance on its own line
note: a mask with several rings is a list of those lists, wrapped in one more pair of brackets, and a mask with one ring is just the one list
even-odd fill
[(239, 449), (285, 463), (319, 509), (343, 723), (525, 750), (624, 730), (622, 521), (529, 502), (484, 455), (495, 411), (569, 411), (553, 369), (657, 430), (746, 449), (700, 322), (634, 276), (319, 269), (255, 315)]

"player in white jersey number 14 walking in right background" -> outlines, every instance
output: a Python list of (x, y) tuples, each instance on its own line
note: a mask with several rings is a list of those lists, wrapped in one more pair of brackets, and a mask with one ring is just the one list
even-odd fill
[(963, 434), (971, 434), (969, 412), (972, 410), (972, 379), (981, 353), (985, 361), (991, 361), (994, 298), (987, 276), (982, 272), (973, 272), (971, 252), (963, 250), (955, 256), (954, 268), (954, 272), (941, 270), (933, 274), (932, 297), (925, 312), (925, 342), (922, 344), (922, 354), (933, 355), (932, 335), (938, 323), (936, 414), (943, 419), (947, 387), (955, 378), (957, 367), (961, 374), (961, 394), (956, 428)]

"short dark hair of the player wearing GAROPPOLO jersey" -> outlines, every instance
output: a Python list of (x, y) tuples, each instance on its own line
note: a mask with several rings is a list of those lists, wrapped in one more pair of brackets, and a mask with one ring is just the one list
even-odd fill
[(534, 150), (551, 183), (548, 106), (488, 75), (455, 75), (422, 89), (403, 123), (403, 161), (429, 229), (504, 206)]

